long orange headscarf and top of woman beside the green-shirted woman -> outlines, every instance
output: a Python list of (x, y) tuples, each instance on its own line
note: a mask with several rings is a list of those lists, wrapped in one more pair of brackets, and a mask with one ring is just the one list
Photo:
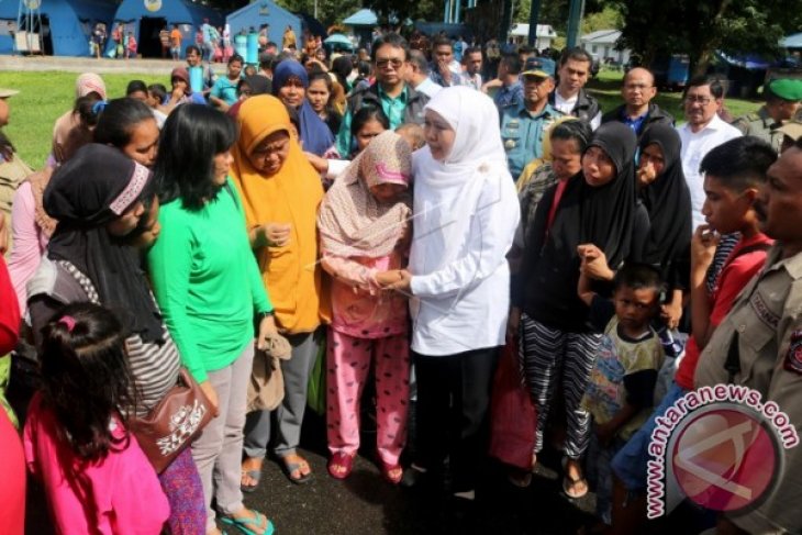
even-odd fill
[(283, 247), (256, 250), (261, 278), (270, 291), (280, 328), (288, 333), (314, 331), (330, 316), (321, 302), (318, 261), (318, 208), (323, 200), (320, 175), (290, 134), (290, 149), (281, 169), (270, 177), (254, 169), (247, 155), (268, 135), (292, 132), (287, 109), (277, 98), (260, 94), (245, 100), (237, 115), (240, 140), (232, 151), (232, 178), (245, 209), (248, 229), (265, 223), (290, 223), (290, 242)]

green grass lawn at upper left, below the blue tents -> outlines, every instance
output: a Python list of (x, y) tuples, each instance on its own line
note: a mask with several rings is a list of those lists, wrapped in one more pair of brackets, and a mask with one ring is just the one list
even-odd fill
[[(169, 86), (169, 76), (142, 74), (102, 75), (109, 98), (123, 97), (129, 81), (140, 79), (145, 83)], [(10, 73), (0, 78), (3, 88), (16, 89), (20, 94), (9, 99), (11, 119), (5, 134), (16, 147), (18, 154), (31, 167), (41, 168), (51, 152), (53, 124), (75, 102), (75, 73)]]

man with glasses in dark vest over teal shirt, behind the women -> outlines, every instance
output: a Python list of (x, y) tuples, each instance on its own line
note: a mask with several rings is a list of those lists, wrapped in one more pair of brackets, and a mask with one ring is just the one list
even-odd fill
[(405, 81), (409, 69), (410, 45), (397, 33), (388, 33), (374, 42), (376, 82), (354, 91), (337, 134), (337, 152), (347, 157), (352, 153), (350, 123), (364, 105), (381, 108), (390, 120), (390, 130), (404, 123), (423, 124), (423, 107), (428, 97), (415, 91)]

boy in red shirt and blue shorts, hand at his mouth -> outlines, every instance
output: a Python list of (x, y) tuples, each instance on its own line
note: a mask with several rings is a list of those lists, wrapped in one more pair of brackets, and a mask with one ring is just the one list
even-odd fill
[[(777, 159), (770, 145), (756, 137), (731, 140), (710, 151), (700, 166), (704, 174), (705, 201), (700, 225), (691, 239), (691, 324), (692, 333), (679, 364), (673, 383), (645, 424), (615, 455), (612, 468), (613, 524), (627, 526), (619, 533), (643, 533), (646, 520), (646, 469), (648, 446), (655, 419), (682, 395), (693, 390), (693, 374), (699, 356), (711, 334), (729, 312), (735, 298), (760, 270), (771, 239), (760, 232), (755, 201), (766, 171)], [(724, 263), (715, 287), (708, 292), (705, 275), (713, 261), (719, 236), (740, 233)]]

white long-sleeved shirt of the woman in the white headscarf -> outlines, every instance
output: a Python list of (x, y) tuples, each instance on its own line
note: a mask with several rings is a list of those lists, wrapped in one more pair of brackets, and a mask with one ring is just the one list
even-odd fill
[(508, 172), (488, 170), (481, 177), (474, 207), (453, 189), (415, 183), (410, 309), (412, 349), (422, 355), (504, 344), (510, 305), (506, 253), (521, 207)]

